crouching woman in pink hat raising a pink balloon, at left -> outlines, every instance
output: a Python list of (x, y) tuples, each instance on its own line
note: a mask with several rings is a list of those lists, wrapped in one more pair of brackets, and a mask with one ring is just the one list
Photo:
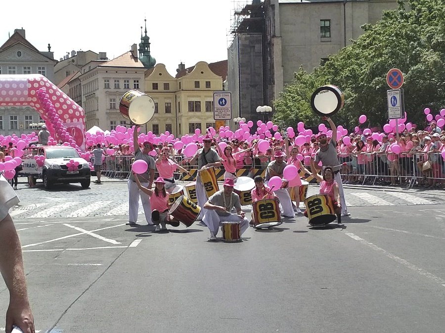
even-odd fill
[(166, 223), (173, 226), (179, 226), (179, 221), (169, 215), (169, 194), (165, 190), (165, 182), (162, 177), (158, 177), (154, 183), (155, 188), (150, 189), (142, 186), (137, 177), (134, 177), (139, 189), (150, 196), (150, 204), (153, 211), (151, 212), (151, 220), (156, 224), (155, 231), (168, 231)]

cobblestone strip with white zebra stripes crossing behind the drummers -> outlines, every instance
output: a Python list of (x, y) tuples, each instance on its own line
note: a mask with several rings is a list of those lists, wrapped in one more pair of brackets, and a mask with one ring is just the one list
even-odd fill
[[(35, 188), (19, 184), (17, 195), (21, 202), (11, 211), (11, 216), (14, 219), (38, 219), (128, 215), (127, 181), (106, 177), (102, 180), (100, 185), (91, 183), (89, 189), (82, 189), (77, 184), (55, 185), (51, 190), (45, 190), (42, 183), (38, 183)], [(443, 190), (357, 185), (345, 185), (344, 188), (349, 207), (445, 203)], [(318, 193), (318, 186), (310, 185), (308, 196), (316, 193)], [(304, 204), (301, 203), (300, 207), (304, 208)], [(244, 208), (248, 209), (248, 207)], [(143, 214), (141, 204), (139, 204), (139, 214)]]

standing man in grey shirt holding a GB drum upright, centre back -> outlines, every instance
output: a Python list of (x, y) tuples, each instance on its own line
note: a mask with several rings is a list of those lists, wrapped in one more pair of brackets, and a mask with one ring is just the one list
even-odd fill
[[(190, 164), (195, 164), (198, 161), (198, 170), (209, 168), (209, 167), (219, 167), (221, 166), (220, 156), (215, 149), (212, 149), (212, 137), (206, 135), (203, 139), (204, 148), (198, 149), (196, 154), (190, 160)], [(196, 198), (198, 200), (198, 206), (203, 207), (207, 201), (206, 192), (204, 185), (202, 184), (201, 177), (196, 178)], [(201, 209), (201, 213), (198, 216), (198, 220), (201, 220), (204, 216), (204, 210)]]

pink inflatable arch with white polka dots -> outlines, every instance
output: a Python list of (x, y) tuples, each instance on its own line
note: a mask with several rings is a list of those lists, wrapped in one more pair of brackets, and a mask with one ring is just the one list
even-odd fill
[(0, 107), (31, 106), (57, 141), (85, 150), (85, 113), (40, 74), (0, 75)]

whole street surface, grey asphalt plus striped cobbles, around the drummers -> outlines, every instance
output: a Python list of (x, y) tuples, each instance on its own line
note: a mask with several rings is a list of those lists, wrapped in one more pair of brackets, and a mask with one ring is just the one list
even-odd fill
[(348, 186), (344, 227), (299, 216), (223, 243), (125, 225), (125, 182), (78, 188), (19, 185), (11, 212), (42, 333), (444, 332), (441, 191)]

